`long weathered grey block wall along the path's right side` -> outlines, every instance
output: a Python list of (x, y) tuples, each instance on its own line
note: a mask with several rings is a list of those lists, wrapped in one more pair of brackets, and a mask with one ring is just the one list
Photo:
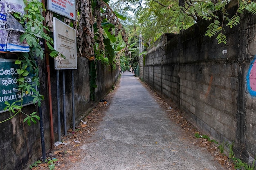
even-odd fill
[[(237, 8), (229, 3), (229, 10)], [(219, 142), (234, 142), (234, 152), (256, 155), (256, 18), (225, 28), (227, 45), (205, 37), (200, 22), (179, 35), (164, 34), (148, 50), (141, 78), (184, 117)], [(246, 160), (247, 161), (247, 160)]]

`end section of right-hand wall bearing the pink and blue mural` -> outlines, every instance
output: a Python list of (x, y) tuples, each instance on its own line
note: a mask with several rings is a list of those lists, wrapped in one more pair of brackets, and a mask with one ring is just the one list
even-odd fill
[[(244, 66), (244, 69), (238, 68), (238, 72), (242, 72), (241, 74), (246, 77), (245, 89), (246, 93), (243, 96), (244, 101), (241, 103), (245, 103), (244, 108), (241, 109), (240, 117), (244, 117), (245, 119), (245, 127), (246, 130), (244, 132), (246, 147), (248, 150), (251, 150), (253, 155), (256, 155), (256, 90), (255, 90), (255, 58), (256, 58), (256, 23), (255, 17), (251, 17), (248, 20), (249, 29), (248, 33), (248, 55), (250, 60), (248, 64)], [(252, 56), (252, 57), (251, 57)], [(240, 71), (241, 70), (241, 71)], [(254, 159), (252, 156), (251, 159)]]

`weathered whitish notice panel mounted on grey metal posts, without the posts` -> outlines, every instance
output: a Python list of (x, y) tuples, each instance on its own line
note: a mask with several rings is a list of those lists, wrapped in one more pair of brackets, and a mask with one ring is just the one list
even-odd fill
[(53, 18), (54, 49), (66, 58), (54, 60), (56, 70), (77, 69), (76, 56), (76, 30)]

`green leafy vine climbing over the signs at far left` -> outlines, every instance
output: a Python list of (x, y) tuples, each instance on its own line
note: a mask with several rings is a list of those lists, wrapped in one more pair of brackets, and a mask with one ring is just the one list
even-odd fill
[[(15, 64), (19, 66), (17, 69), (18, 73), (18, 90), (21, 93), (21, 99), (19, 101), (13, 102), (10, 104), (9, 102), (5, 102), (7, 105), (4, 110), (8, 110), (11, 114), (7, 121), (17, 115), (18, 113), (25, 114), (27, 117), (24, 119), (24, 122), (27, 121), (27, 124), (30, 126), (31, 121), (36, 123), (36, 120), (40, 118), (36, 115), (36, 112), (31, 114), (26, 114), (22, 112), (22, 102), (23, 102), (23, 94), (32, 94), (31, 97), (34, 97), (33, 103), (41, 106), (41, 101), (44, 99), (43, 95), (41, 95), (36, 89), (40, 86), (39, 82), (39, 68), (37, 66), (36, 60), (43, 59), (44, 51), (39, 44), (39, 38), (43, 38), (47, 41), (47, 46), (52, 53), (50, 54), (53, 57), (63, 56), (57, 51), (55, 51), (50, 44), (53, 43), (52, 38), (44, 32), (49, 31), (47, 27), (43, 25), (43, 21), (45, 18), (41, 14), (42, 10), (45, 10), (45, 7), (38, 0), (24, 0), (27, 7), (25, 7), (26, 13), (22, 15), (21, 13), (13, 13), (13, 16), (22, 24), (25, 28), (25, 33), (20, 36), (20, 42), (26, 41), (30, 47), (29, 53), (18, 53), (18, 60), (15, 61)], [(29, 84), (25, 81), (25, 77), (32, 73), (35, 75), (32, 77), (33, 84)], [(0, 123), (4, 122), (0, 121)]]

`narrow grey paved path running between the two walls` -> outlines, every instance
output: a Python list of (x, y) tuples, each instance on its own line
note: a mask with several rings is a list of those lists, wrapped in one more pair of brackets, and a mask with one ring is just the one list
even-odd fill
[(180, 126), (130, 72), (110, 101), (93, 142), (69, 170), (225, 170), (184, 137)]

